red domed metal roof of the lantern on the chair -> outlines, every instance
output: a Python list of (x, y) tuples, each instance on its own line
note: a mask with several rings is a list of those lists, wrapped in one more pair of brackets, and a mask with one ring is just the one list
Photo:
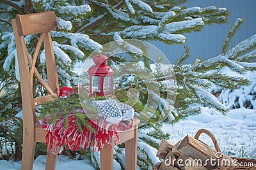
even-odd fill
[(106, 65), (107, 61), (108, 57), (102, 54), (93, 57), (95, 65), (88, 69), (88, 74), (90, 74), (90, 76), (113, 76), (114, 71), (110, 66)]

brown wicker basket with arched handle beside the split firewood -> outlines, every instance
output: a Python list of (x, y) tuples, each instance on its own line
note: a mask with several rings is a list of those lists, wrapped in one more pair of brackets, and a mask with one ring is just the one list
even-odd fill
[[(214, 144), (215, 149), (217, 150), (217, 152), (221, 153), (218, 142), (217, 142), (216, 138), (214, 137), (214, 135), (210, 131), (208, 131), (206, 129), (200, 129), (198, 132), (196, 132), (195, 139), (198, 139), (200, 134), (202, 134), (202, 133), (205, 133), (208, 136), (210, 136), (210, 138), (212, 139), (212, 142)], [(241, 158), (237, 158), (237, 157), (231, 157), (231, 158), (234, 159), (234, 160), (237, 160), (236, 161), (237, 166), (224, 167), (224, 166), (220, 165), (220, 167), (218, 167), (217, 169), (218, 170), (219, 169), (220, 170), (223, 170), (223, 169), (226, 169), (226, 170), (256, 169), (256, 160), (255, 159), (241, 159)], [(220, 160), (221, 160), (221, 158), (220, 158)]]

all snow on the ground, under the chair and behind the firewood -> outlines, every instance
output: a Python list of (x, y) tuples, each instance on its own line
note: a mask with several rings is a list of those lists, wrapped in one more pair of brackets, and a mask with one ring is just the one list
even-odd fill
[[(231, 157), (256, 158), (256, 110), (237, 109), (231, 110), (227, 116), (218, 114), (209, 108), (202, 108), (202, 114), (189, 117), (173, 126), (163, 125), (164, 132), (170, 132), (170, 141), (176, 143), (187, 134), (195, 136), (199, 129), (207, 129), (216, 137), (221, 151)], [(202, 134), (199, 138), (209, 146), (213, 146), (211, 138)], [(21, 162), (12, 160), (0, 160), (0, 169), (20, 169)], [(45, 167), (45, 155), (41, 155), (34, 161), (34, 170)], [(90, 160), (68, 159), (60, 155), (57, 160), (56, 170), (62, 169), (95, 169)], [(116, 166), (115, 170), (120, 169)]]

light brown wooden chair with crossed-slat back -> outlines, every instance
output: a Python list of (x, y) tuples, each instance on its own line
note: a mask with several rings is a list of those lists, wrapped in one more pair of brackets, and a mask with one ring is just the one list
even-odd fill
[[(17, 15), (12, 20), (17, 55), (20, 72), (20, 89), (22, 96), (23, 110), (23, 148), (22, 148), (22, 170), (29, 170), (33, 167), (36, 142), (45, 143), (45, 129), (36, 121), (35, 106), (52, 101), (52, 96), (58, 96), (59, 84), (56, 71), (54, 51), (52, 48), (52, 39), (50, 31), (56, 29), (56, 16), (54, 12), (47, 11), (43, 13), (33, 13), (28, 15)], [(28, 48), (24, 41), (24, 36), (40, 33), (40, 39), (35, 46), (33, 57), (28, 53)], [(45, 60), (47, 69), (47, 82), (44, 81), (38, 73), (35, 64), (38, 52), (44, 42)], [(47, 90), (48, 95), (43, 97), (33, 97), (33, 78), (42, 84)], [(120, 132), (120, 141), (125, 143), (125, 161), (126, 169), (137, 169), (137, 140), (139, 120), (134, 120), (134, 126), (131, 131)], [(57, 155), (47, 150), (47, 159), (45, 169), (51, 170), (56, 167)], [(113, 168), (113, 148), (105, 145), (100, 150), (100, 169)]]

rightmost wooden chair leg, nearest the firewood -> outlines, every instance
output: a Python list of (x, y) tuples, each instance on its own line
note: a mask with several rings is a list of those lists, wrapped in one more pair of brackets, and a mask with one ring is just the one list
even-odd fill
[(125, 169), (137, 169), (137, 144), (138, 143), (138, 127), (134, 129), (134, 138), (125, 141)]

